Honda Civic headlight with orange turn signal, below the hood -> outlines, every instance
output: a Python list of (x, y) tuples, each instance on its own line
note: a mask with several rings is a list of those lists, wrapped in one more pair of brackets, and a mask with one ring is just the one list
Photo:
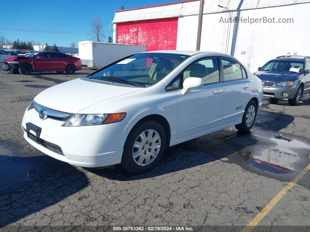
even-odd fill
[(126, 113), (114, 114), (73, 114), (62, 126), (89, 126), (118, 122), (126, 116)]

